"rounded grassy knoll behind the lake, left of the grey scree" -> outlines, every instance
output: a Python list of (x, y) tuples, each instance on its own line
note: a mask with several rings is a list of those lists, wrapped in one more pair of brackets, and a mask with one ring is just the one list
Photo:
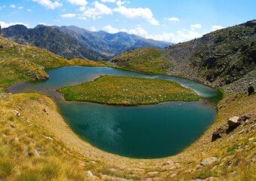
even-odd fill
[(156, 48), (138, 48), (126, 51), (108, 62), (109, 66), (128, 69), (134, 72), (167, 74), (170, 64)]

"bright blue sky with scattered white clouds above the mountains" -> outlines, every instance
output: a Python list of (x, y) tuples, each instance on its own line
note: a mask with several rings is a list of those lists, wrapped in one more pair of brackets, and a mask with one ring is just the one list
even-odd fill
[(255, 0), (0, 0), (0, 25), (73, 25), (178, 43), (254, 20), (255, 9)]

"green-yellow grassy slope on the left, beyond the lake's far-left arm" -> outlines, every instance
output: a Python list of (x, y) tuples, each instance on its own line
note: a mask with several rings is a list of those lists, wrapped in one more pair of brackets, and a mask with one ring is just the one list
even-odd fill
[(104, 66), (104, 63), (67, 61), (41, 48), (17, 44), (0, 36), (0, 92), (15, 82), (48, 78), (45, 69), (72, 65)]

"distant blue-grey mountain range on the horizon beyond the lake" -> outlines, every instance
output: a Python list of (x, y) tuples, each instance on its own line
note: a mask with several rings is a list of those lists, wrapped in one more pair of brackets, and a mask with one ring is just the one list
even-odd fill
[(154, 41), (126, 32), (109, 34), (91, 32), (77, 26), (10, 26), (2, 30), (5, 37), (20, 44), (29, 44), (58, 54), (66, 59), (109, 60), (123, 51), (141, 47), (163, 49), (171, 43)]

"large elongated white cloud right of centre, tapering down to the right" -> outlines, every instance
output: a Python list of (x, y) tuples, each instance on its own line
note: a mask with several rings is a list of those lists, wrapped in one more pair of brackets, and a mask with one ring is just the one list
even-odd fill
[(114, 8), (113, 11), (129, 19), (148, 20), (153, 25), (159, 25), (159, 22), (153, 18), (150, 8), (126, 8), (125, 6), (119, 6), (118, 8)]

